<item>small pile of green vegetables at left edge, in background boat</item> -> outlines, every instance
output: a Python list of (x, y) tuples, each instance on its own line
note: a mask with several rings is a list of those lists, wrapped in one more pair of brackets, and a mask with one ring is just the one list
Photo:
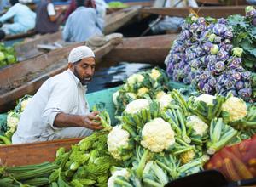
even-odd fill
[(5, 47), (3, 42), (0, 42), (0, 67), (14, 64), (17, 62), (15, 48)]

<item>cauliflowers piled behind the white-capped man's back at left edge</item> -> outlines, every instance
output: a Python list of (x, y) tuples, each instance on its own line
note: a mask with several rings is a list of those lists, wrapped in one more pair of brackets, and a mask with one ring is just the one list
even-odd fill
[(8, 112), (6, 126), (2, 126), (5, 134), (4, 136), (0, 136), (0, 144), (11, 144), (11, 139), (20, 121), (21, 113), (25, 110), (30, 99), (32, 99), (32, 96), (25, 95), (23, 98), (18, 100), (15, 109)]

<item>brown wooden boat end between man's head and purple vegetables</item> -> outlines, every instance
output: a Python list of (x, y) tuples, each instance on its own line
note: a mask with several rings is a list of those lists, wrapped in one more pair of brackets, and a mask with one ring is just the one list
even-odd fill
[(102, 60), (119, 62), (137, 62), (150, 64), (163, 64), (169, 53), (172, 41), (177, 34), (151, 37), (129, 37), (123, 39), (116, 48), (105, 55)]

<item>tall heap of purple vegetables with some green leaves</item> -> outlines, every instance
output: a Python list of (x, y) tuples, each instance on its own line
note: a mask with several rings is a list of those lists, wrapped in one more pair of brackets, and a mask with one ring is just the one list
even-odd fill
[(255, 63), (249, 60), (255, 28), (239, 15), (215, 20), (190, 14), (166, 57), (168, 76), (193, 84), (202, 94), (231, 92), (247, 101), (255, 99), (255, 75), (250, 72)]

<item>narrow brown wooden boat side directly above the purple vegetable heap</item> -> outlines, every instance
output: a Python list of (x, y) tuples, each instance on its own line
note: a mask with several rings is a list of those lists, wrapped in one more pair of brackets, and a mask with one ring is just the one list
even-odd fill
[[(141, 8), (141, 14), (159, 14), (169, 16), (186, 17), (191, 8)], [(226, 18), (232, 14), (245, 14), (245, 6), (200, 7), (192, 8), (199, 16), (213, 18)]]

